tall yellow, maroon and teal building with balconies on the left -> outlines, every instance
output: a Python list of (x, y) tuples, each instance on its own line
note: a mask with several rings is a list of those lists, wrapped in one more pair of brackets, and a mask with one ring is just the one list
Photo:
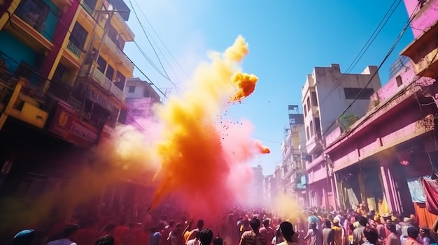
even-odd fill
[(122, 0), (0, 1), (0, 198), (29, 205), (61, 186), (117, 126), (128, 17)]

